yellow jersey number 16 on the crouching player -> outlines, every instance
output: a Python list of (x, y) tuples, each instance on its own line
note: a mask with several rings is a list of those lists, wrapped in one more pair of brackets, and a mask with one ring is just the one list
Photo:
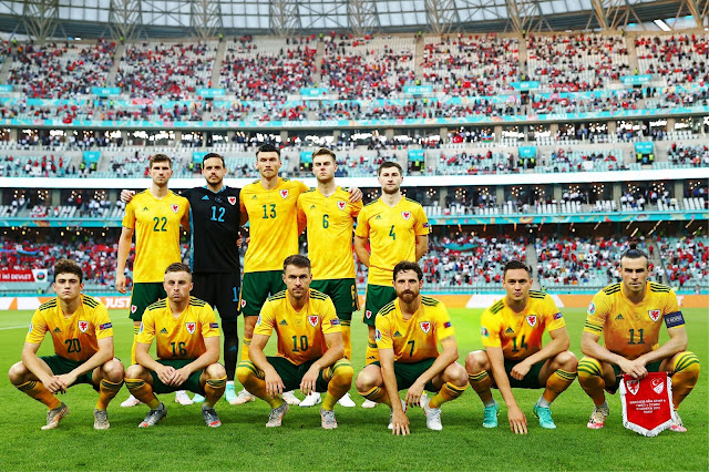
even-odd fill
[(177, 318), (167, 300), (145, 309), (137, 342), (152, 345), (157, 338), (158, 359), (196, 359), (207, 351), (205, 338), (219, 336), (214, 310), (206, 301), (189, 297), (189, 305)]

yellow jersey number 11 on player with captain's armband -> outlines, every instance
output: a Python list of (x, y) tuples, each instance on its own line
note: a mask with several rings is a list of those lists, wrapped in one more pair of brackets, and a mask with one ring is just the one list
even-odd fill
[(604, 338), (604, 346), (626, 359), (659, 347), (662, 320), (667, 329), (685, 326), (677, 296), (666, 285), (647, 283), (645, 298), (635, 305), (623, 293), (623, 284), (613, 284), (594, 296), (586, 312), (584, 331)]

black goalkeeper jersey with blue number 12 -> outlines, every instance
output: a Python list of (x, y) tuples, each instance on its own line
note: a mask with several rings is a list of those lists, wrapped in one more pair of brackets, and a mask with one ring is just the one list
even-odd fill
[(239, 189), (217, 193), (206, 186), (184, 191), (189, 201), (189, 263), (194, 273), (240, 273)]

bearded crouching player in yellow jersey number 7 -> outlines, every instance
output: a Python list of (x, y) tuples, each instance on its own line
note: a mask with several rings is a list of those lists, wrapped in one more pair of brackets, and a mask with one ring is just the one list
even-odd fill
[[(359, 373), (357, 391), (391, 408), (393, 434), (409, 434), (407, 406), (421, 406), (427, 427), (440, 431), (441, 404), (455, 400), (467, 388), (465, 369), (455, 362), (458, 343), (451, 318), (441, 301), (421, 295), (423, 271), (417, 263), (397, 264), (393, 286), (397, 299), (377, 316), (380, 360)], [(438, 350), (439, 342), (443, 352)], [(409, 389), (405, 401), (398, 401), (403, 389)], [(429, 400), (423, 390), (438, 393)]]

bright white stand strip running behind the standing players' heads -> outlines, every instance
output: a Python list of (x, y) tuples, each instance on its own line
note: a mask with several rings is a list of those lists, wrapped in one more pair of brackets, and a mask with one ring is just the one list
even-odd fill
[[(604, 182), (659, 182), (684, 181), (687, 178), (709, 178), (709, 167), (702, 168), (655, 168), (647, 171), (612, 172), (566, 172), (532, 174), (489, 174), (489, 175), (421, 175), (404, 176), (403, 187), (450, 187), (450, 186), (490, 186), (490, 185), (545, 185), (583, 184)], [(297, 178), (297, 177), (296, 177)], [(315, 177), (297, 178), (309, 187), (317, 186)], [(254, 182), (254, 178), (225, 178), (229, 186), (240, 188)], [(172, 178), (171, 188), (192, 188), (201, 185), (199, 178)], [(147, 188), (150, 178), (56, 178), (56, 177), (0, 177), (0, 188)], [(377, 176), (338, 177), (338, 185), (360, 188), (379, 187)]]

